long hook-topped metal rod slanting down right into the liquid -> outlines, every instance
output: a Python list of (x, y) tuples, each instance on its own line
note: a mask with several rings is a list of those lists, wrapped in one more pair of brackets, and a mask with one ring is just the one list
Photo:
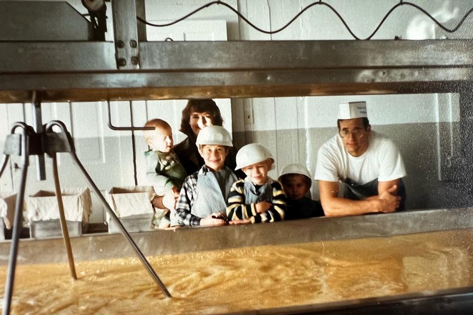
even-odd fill
[(50, 130), (54, 125), (58, 126), (61, 128), (61, 131), (67, 135), (67, 139), (69, 141), (69, 146), (70, 146), (70, 155), (71, 155), (71, 158), (72, 158), (72, 162), (74, 162), (74, 164), (79, 168), (79, 170), (81, 171), (82, 175), (84, 176), (85, 180), (88, 182), (90, 188), (92, 188), (92, 190), (97, 194), (97, 197), (99, 197), (103, 207), (105, 207), (105, 210), (108, 211), (108, 214), (110, 215), (110, 217), (113, 219), (113, 221), (115, 222), (115, 224), (118, 226), (118, 228), (120, 229), (120, 232), (122, 233), (122, 235), (127, 239), (127, 241), (130, 243), (130, 245), (133, 247), (133, 249), (135, 250), (135, 253), (136, 255), (138, 256), (138, 258), (141, 260), (141, 263), (143, 264), (143, 266), (145, 267), (146, 271), (149, 273), (149, 275), (151, 276), (151, 278), (153, 278), (153, 280), (156, 282), (156, 284), (158, 284), (160, 287), (161, 287), (161, 290), (163, 291), (163, 293), (167, 296), (167, 297), (171, 297), (171, 294), (169, 293), (168, 289), (166, 288), (166, 285), (164, 285), (164, 283), (161, 281), (161, 279), (159, 279), (158, 275), (156, 274), (156, 272), (154, 271), (153, 267), (151, 266), (151, 264), (148, 262), (148, 260), (146, 259), (146, 257), (143, 255), (143, 253), (141, 252), (141, 250), (139, 249), (138, 245), (136, 245), (135, 241), (132, 239), (132, 237), (130, 236), (130, 234), (128, 233), (128, 231), (125, 229), (125, 227), (123, 226), (123, 224), (120, 222), (120, 220), (118, 219), (118, 217), (116, 216), (115, 212), (113, 212), (113, 210), (110, 208), (110, 206), (108, 205), (107, 201), (105, 200), (105, 198), (103, 197), (103, 195), (101, 194), (99, 188), (97, 187), (97, 185), (94, 183), (94, 181), (92, 180), (92, 178), (90, 177), (90, 175), (87, 173), (87, 171), (85, 170), (84, 166), (82, 165), (82, 163), (80, 163), (79, 161), (79, 158), (77, 157), (76, 153), (75, 153), (75, 149), (74, 149), (74, 143), (72, 142), (72, 139), (70, 138), (70, 135), (68, 134), (68, 131), (67, 131), (67, 128), (66, 126), (64, 125), (64, 123), (62, 121), (59, 121), (59, 120), (53, 120), (53, 121), (50, 121), (47, 126), (46, 126), (46, 131)]

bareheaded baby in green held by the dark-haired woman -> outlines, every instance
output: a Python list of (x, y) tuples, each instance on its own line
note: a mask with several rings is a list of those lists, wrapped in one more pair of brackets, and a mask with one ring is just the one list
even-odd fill
[(144, 152), (146, 179), (155, 191), (151, 201), (156, 207), (153, 224), (157, 228), (165, 228), (176, 223), (175, 204), (187, 173), (174, 153), (169, 124), (162, 119), (151, 119), (144, 126), (155, 128), (143, 132), (149, 148)]

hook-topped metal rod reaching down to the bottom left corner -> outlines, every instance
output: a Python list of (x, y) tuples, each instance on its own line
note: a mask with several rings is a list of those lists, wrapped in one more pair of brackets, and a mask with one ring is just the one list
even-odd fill
[[(17, 123), (14, 125), (12, 129), (12, 133), (19, 127), (21, 124)], [(15, 218), (13, 221), (13, 235), (11, 240), (11, 247), (10, 247), (10, 259), (8, 261), (8, 273), (6, 276), (6, 283), (5, 283), (5, 296), (3, 298), (3, 315), (10, 314), (10, 307), (11, 307), (11, 297), (13, 294), (13, 284), (15, 281), (15, 269), (16, 269), (16, 258), (18, 255), (18, 242), (20, 238), (20, 229), (21, 229), (21, 214), (23, 212), (23, 201), (25, 199), (25, 186), (26, 186), (26, 176), (28, 174), (28, 161), (29, 161), (29, 150), (28, 150), (28, 142), (29, 136), (27, 133), (27, 129), (23, 126), (23, 137), (22, 139), (22, 151), (21, 151), (21, 179), (20, 179), (20, 186), (18, 188), (18, 197), (16, 199), (15, 205)]]

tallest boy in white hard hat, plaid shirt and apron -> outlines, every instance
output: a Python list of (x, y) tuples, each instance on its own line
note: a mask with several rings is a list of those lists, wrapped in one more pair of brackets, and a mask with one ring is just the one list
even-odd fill
[(184, 180), (177, 200), (177, 222), (186, 226), (223, 225), (230, 187), (238, 179), (224, 165), (232, 137), (223, 127), (208, 126), (199, 132), (196, 145), (205, 164)]

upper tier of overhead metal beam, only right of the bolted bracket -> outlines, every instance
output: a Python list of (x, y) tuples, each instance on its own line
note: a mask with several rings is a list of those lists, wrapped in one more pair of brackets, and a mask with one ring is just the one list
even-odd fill
[(141, 68), (296, 70), (472, 67), (473, 40), (271, 40), (140, 43)]

